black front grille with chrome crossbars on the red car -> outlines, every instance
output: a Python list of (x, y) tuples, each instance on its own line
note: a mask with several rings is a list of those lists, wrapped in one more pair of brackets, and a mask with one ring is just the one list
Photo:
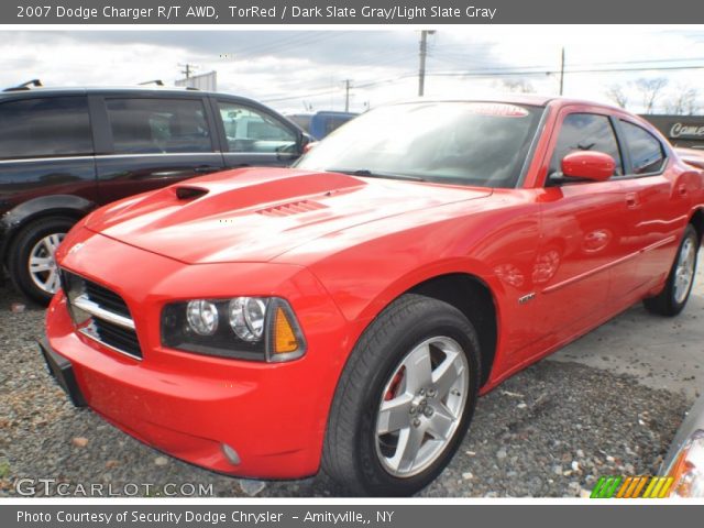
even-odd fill
[(66, 271), (62, 272), (62, 283), (79, 332), (118, 352), (142, 359), (134, 321), (122, 297)]

